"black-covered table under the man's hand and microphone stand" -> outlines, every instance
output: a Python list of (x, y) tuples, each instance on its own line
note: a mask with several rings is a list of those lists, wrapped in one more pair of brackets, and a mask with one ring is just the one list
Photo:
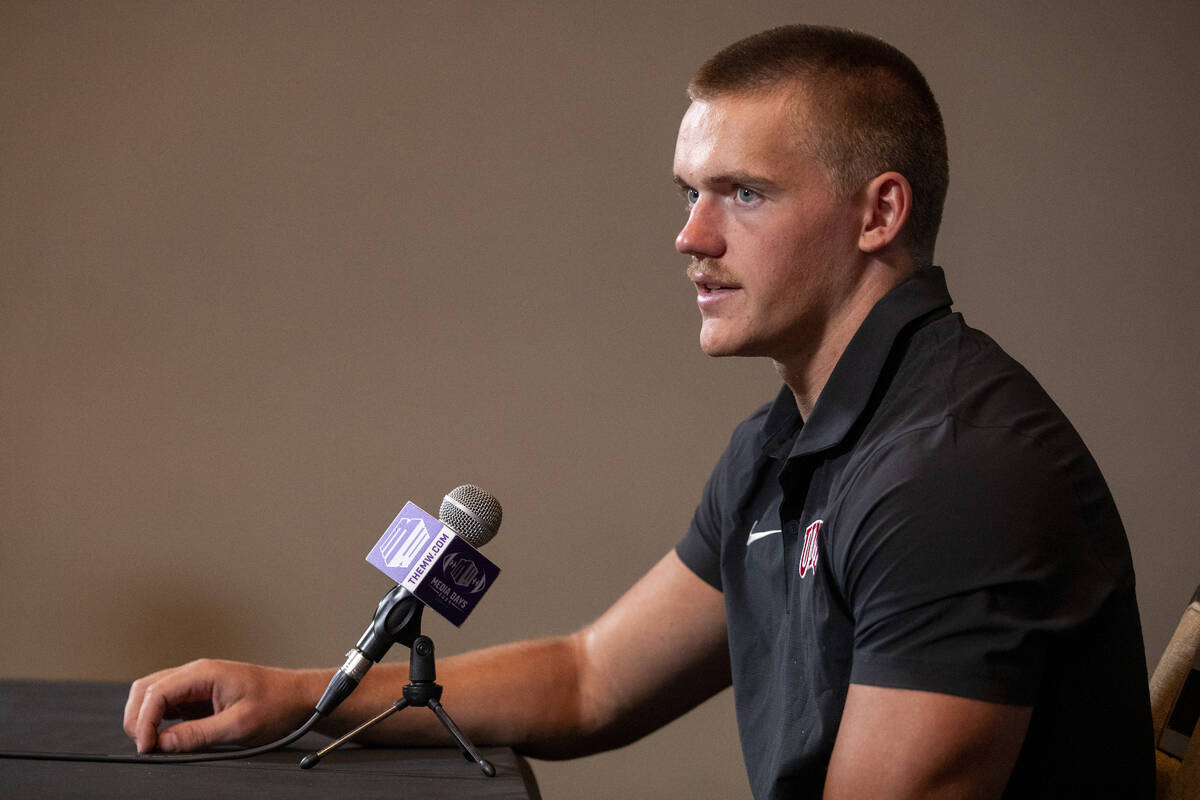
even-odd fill
[[(0, 680), (0, 751), (134, 754), (121, 730), (127, 690), (113, 682)], [(404, 711), (416, 712), (428, 710)], [(352, 745), (314, 769), (298, 766), (305, 753), (328, 742), (308, 734), (274, 753), (199, 764), (0, 758), (0, 796), (540, 799), (529, 765), (504, 747), (480, 751), (496, 766), (491, 778), (457, 750), (442, 747)]]

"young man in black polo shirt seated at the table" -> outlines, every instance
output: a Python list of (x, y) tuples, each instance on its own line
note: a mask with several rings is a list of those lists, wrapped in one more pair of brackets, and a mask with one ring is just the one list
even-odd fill
[[(599, 620), (439, 664), (460, 726), (583, 754), (732, 682), (757, 798), (1151, 796), (1124, 533), (1070, 425), (930, 266), (947, 163), (924, 78), (877, 40), (791, 26), (690, 95), (676, 246), (701, 347), (769, 357), (785, 386)], [(329, 675), (193, 662), (133, 684), (126, 730), (143, 752), (270, 740)], [(406, 680), (377, 667), (330, 728)], [(211, 716), (157, 732), (194, 703)], [(445, 739), (394, 721), (380, 740)]]

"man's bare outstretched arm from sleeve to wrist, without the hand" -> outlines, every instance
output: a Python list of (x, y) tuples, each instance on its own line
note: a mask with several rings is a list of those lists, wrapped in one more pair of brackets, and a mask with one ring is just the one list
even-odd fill
[[(404, 664), (376, 667), (324, 729), (348, 730), (378, 714), (407, 681)], [(730, 685), (724, 600), (671, 551), (577, 633), (445, 658), (438, 681), (475, 744), (539, 758), (619, 747)], [(311, 691), (316, 703), (324, 685)], [(432, 714), (406, 710), (378, 728), (372, 741), (450, 741)]]

